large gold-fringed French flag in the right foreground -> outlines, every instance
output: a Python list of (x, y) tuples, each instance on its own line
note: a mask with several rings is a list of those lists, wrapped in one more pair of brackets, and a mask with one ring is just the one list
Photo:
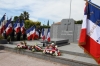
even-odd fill
[(100, 7), (88, 2), (84, 12), (79, 46), (100, 64)]

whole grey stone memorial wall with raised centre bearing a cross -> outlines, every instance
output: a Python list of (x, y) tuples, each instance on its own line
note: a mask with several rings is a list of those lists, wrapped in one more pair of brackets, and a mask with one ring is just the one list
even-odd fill
[(60, 24), (53, 24), (51, 27), (51, 35), (56, 40), (66, 40), (69, 42), (77, 42), (81, 30), (80, 24), (75, 24), (73, 19), (62, 19)]

